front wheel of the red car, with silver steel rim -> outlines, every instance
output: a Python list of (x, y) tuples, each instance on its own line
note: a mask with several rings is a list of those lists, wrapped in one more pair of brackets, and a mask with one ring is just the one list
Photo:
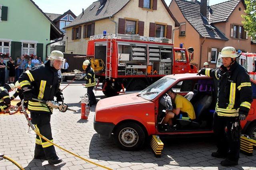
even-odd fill
[(114, 131), (114, 140), (122, 150), (139, 150), (144, 145), (145, 132), (138, 123), (122, 123)]

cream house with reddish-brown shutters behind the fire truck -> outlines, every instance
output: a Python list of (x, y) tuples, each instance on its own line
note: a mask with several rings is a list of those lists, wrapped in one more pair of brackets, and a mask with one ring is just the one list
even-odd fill
[(98, 0), (65, 27), (65, 52), (86, 54), (90, 36), (104, 30), (172, 39), (175, 26), (179, 24), (164, 0)]

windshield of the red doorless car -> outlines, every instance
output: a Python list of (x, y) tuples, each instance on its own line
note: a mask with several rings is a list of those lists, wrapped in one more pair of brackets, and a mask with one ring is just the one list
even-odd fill
[(162, 77), (160, 80), (148, 86), (146, 89), (140, 91), (137, 96), (140, 96), (146, 100), (152, 100), (156, 98), (166, 88), (170, 87), (170, 85), (172, 85), (172, 83), (174, 83), (175, 81), (175, 79)]

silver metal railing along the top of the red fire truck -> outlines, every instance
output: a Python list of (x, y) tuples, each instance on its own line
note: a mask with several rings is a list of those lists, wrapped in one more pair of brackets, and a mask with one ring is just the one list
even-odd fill
[(144, 42), (159, 42), (159, 43), (171, 43), (172, 39), (168, 38), (157, 38), (157, 37), (146, 37), (140, 35), (130, 35), (130, 34), (98, 34), (90, 36), (90, 40), (98, 39), (122, 39), (122, 40), (135, 40)]

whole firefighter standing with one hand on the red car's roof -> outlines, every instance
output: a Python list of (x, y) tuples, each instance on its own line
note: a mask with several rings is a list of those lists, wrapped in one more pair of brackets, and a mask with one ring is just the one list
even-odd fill
[(226, 158), (220, 163), (222, 166), (233, 166), (238, 164), (240, 121), (246, 119), (250, 110), (252, 87), (246, 69), (236, 62), (234, 47), (224, 47), (220, 57), (223, 65), (218, 69), (202, 68), (198, 75), (207, 75), (218, 81), (218, 100), (213, 123), (218, 150), (212, 156)]

